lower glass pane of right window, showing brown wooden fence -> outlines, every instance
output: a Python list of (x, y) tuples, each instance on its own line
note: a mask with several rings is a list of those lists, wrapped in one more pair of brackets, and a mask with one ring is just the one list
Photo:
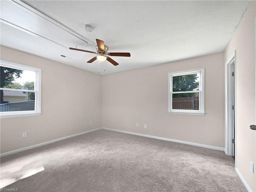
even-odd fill
[(199, 110), (199, 92), (172, 94), (172, 109)]

